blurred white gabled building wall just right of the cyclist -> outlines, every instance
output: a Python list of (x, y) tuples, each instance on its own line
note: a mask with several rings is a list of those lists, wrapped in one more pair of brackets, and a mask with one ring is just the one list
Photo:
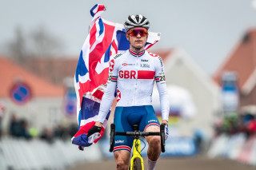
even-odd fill
[[(179, 90), (180, 95), (187, 96), (186, 101), (194, 105), (190, 108), (190, 117), (185, 117), (184, 113), (182, 116), (181, 113), (178, 122), (180, 136), (193, 136), (198, 130), (206, 137), (213, 136), (215, 117), (220, 109), (218, 85), (198, 67), (185, 50), (162, 49), (155, 53), (158, 53), (165, 63), (166, 84), (170, 90), (170, 96), (174, 95), (181, 101), (181, 96), (177, 94)], [(170, 103), (170, 110), (172, 107), (174, 106)]]

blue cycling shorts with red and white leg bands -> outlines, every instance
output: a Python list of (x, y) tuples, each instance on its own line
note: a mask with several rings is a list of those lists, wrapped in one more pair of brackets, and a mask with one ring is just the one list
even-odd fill
[[(114, 112), (116, 132), (133, 132), (134, 124), (138, 125), (140, 132), (144, 132), (152, 125), (160, 127), (152, 105), (116, 107)], [(114, 136), (114, 152), (118, 150), (131, 152), (133, 141), (132, 136)]]

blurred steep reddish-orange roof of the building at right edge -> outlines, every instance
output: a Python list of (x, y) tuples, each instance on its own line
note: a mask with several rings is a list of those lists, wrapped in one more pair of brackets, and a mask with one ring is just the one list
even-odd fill
[(214, 81), (222, 85), (222, 74), (235, 72), (238, 81), (240, 109), (244, 106), (256, 106), (256, 29), (244, 34), (234, 47), (230, 56), (223, 61), (216, 73)]

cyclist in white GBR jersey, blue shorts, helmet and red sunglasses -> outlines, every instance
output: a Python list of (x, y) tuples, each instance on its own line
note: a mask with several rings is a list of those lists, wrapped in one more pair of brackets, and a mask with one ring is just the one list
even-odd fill
[[(152, 107), (152, 91), (156, 81), (161, 110), (162, 123), (166, 124), (168, 137), (169, 97), (166, 91), (164, 66), (161, 57), (145, 50), (150, 22), (141, 14), (130, 15), (124, 23), (126, 38), (130, 49), (117, 54), (110, 61), (110, 75), (106, 92), (102, 97), (98, 119), (88, 136), (99, 132), (106, 114), (109, 112), (117, 91), (117, 107), (114, 124), (117, 132), (132, 131), (138, 124), (140, 131), (159, 132), (159, 121)], [(149, 144), (147, 151), (148, 169), (154, 169), (161, 153), (160, 136), (146, 136)], [(117, 169), (128, 169), (133, 137), (116, 136), (114, 141), (114, 158)]]

